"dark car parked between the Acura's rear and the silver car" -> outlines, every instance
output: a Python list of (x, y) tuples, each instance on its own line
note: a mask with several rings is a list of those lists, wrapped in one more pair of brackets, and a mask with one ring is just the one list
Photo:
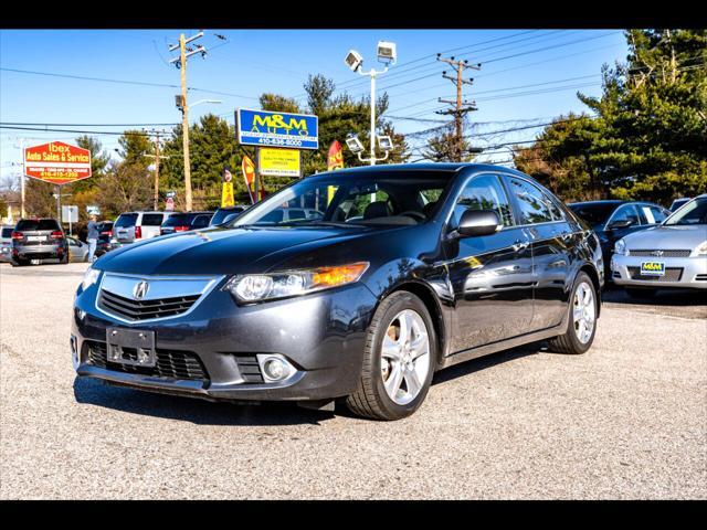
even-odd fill
[(604, 256), (604, 276), (611, 278), (611, 255), (621, 237), (662, 223), (671, 214), (651, 202), (590, 201), (568, 204), (599, 236)]

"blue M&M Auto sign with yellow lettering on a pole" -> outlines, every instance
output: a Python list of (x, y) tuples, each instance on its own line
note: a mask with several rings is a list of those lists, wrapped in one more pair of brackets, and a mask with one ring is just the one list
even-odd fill
[(318, 149), (319, 121), (308, 114), (239, 108), (236, 135), (242, 146)]

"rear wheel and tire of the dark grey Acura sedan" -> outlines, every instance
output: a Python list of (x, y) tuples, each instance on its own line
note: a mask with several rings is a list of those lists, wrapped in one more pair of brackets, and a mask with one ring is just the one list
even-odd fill
[[(583, 315), (580, 320), (584, 320), (584, 328), (576, 321), (576, 304), (578, 298), (585, 299), (582, 294), (589, 292), (591, 294), (591, 300), (584, 306), (585, 310), (578, 311)], [(570, 353), (580, 354), (589, 350), (594, 342), (594, 336), (597, 335), (597, 314), (599, 307), (597, 306), (597, 289), (591, 278), (587, 273), (579, 273), (574, 278), (572, 285), (572, 295), (570, 297), (570, 304), (568, 309), (567, 330), (563, 335), (550, 339), (550, 350), (557, 353)], [(591, 332), (588, 335), (583, 329), (588, 326), (588, 318), (591, 318)], [(580, 336), (582, 336), (580, 338)]]

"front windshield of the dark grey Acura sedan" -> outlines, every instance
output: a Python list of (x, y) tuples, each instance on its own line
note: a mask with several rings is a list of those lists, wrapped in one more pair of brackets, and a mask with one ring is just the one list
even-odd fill
[(454, 172), (340, 171), (308, 177), (229, 223), (272, 225), (410, 225), (434, 214)]

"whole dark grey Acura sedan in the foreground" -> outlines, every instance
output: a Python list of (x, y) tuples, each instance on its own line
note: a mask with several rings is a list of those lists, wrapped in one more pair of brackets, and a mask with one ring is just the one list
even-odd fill
[[(330, 187), (323, 218), (272, 221), (315, 210)], [(602, 283), (597, 235), (524, 173), (345, 169), (99, 258), (76, 292), (72, 359), (78, 375), (136, 389), (328, 410), (340, 399), (397, 420), (435, 370), (542, 339), (587, 351)]]

